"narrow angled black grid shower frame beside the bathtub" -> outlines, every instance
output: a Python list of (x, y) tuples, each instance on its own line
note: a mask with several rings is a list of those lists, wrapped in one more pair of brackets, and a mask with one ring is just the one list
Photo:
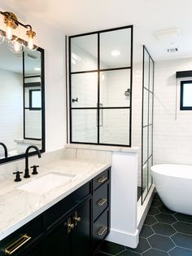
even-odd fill
[[(148, 88), (145, 87), (145, 51), (147, 52), (149, 56), (149, 72), (148, 72)], [(152, 69), (152, 90), (150, 87), (150, 82), (151, 82), (151, 62), (153, 65)], [(152, 186), (152, 178), (151, 178), (151, 186), (149, 186), (149, 161), (151, 160), (151, 165), (153, 165), (153, 113), (154, 113), (154, 73), (155, 73), (155, 64), (154, 60), (152, 59), (149, 51), (146, 49), (146, 46), (143, 46), (143, 60), (142, 60), (142, 204), (146, 200), (146, 196), (148, 195), (148, 192), (151, 189)], [(143, 116), (144, 116), (144, 108), (143, 108), (143, 103), (144, 103), (144, 90), (148, 91), (148, 115), (147, 115), (147, 125), (143, 125)], [(149, 122), (150, 120), (150, 95), (152, 95), (152, 118), (151, 118), (151, 123)], [(151, 126), (151, 155), (149, 155), (149, 127)], [(147, 127), (147, 157), (146, 161), (143, 163), (143, 130), (144, 128)], [(143, 197), (143, 166), (147, 165), (147, 192), (146, 196)]]

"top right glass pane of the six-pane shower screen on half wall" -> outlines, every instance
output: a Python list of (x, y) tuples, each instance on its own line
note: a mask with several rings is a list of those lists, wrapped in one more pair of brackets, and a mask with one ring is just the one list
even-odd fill
[(131, 29), (100, 34), (100, 68), (131, 66)]

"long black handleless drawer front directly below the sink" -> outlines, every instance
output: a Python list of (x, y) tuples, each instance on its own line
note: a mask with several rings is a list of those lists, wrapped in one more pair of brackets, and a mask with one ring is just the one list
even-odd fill
[(69, 210), (72, 210), (78, 203), (80, 203), (85, 196), (90, 194), (91, 183), (86, 183), (81, 188), (78, 188), (75, 192), (72, 192), (69, 196), (63, 198), (56, 205), (52, 206), (49, 210), (46, 210), (44, 214), (44, 223), (46, 228), (52, 227), (60, 218), (65, 214), (68, 214)]

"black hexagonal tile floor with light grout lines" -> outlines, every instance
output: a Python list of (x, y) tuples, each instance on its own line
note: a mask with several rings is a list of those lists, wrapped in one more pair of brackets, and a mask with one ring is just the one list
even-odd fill
[(192, 216), (168, 210), (155, 194), (136, 249), (105, 241), (97, 256), (192, 256)]

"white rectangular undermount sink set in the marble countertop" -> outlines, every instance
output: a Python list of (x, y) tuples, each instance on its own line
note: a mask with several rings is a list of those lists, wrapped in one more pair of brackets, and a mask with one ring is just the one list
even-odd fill
[(34, 179), (24, 185), (20, 185), (17, 189), (24, 190), (33, 194), (43, 195), (50, 190), (57, 188), (61, 185), (66, 185), (72, 181), (74, 174), (62, 174), (57, 172), (51, 172), (45, 174), (40, 178)]

